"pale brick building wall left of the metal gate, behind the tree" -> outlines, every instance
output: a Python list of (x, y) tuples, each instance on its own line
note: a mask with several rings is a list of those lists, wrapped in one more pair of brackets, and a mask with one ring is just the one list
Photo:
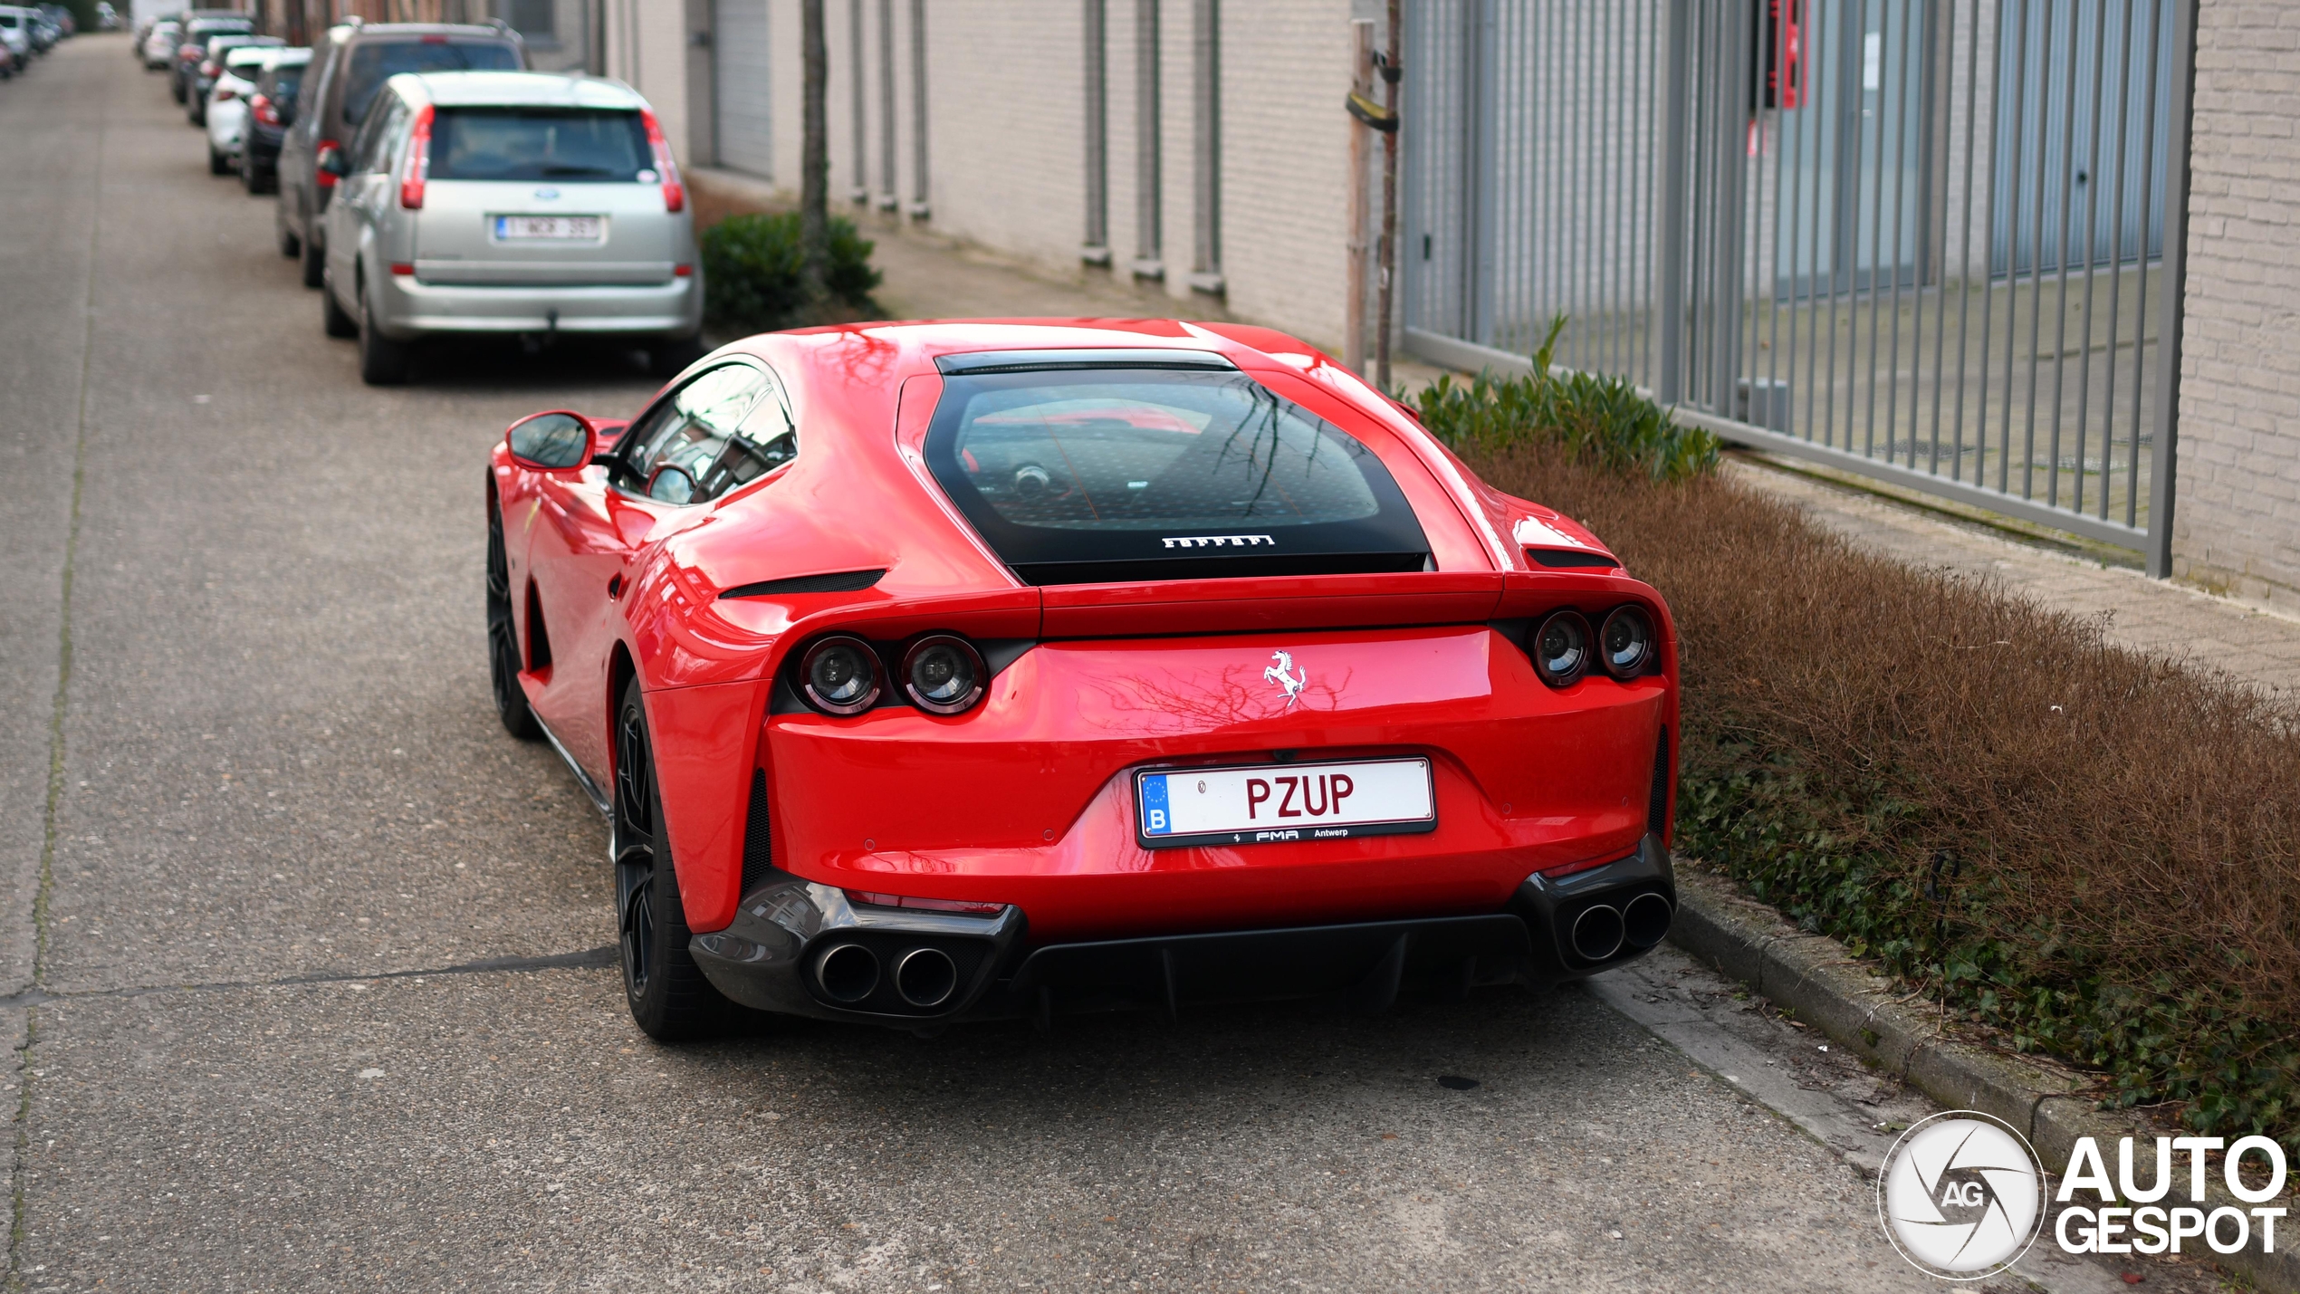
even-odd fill
[[(612, 0), (614, 5), (662, 0)], [(768, 5), (775, 97), (773, 184), (796, 200), (800, 44), (796, 0)], [(1026, 257), (1056, 274), (1127, 274), (1136, 218), (1136, 5), (1106, 0), (1111, 271), (1086, 271), (1086, 55), (1081, 0), (934, 0), (927, 5), (925, 225), (943, 237)], [(865, 172), (853, 165), (853, 5), (862, 9)], [(1359, 7), (1366, 7), (1359, 0)], [(881, 177), (879, 0), (828, 0), (830, 195), (874, 200)], [(895, 156), (904, 209), (913, 179), (911, 5), (895, 0)], [(1343, 331), (1352, 0), (1224, 0), (1221, 5), (1221, 276), (1226, 299), (1189, 287), (1196, 246), (1191, 0), (1159, 5), (1162, 232), (1166, 292), (1182, 317), (1230, 315), (1336, 347)], [(656, 90), (649, 87), (653, 97)], [(660, 101), (660, 99), (658, 99)], [(885, 237), (867, 221), (869, 237)]]

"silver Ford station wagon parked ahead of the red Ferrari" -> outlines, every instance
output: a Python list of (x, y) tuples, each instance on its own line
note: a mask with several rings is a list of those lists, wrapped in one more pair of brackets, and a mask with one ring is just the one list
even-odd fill
[(695, 214), (662, 126), (619, 80), (428, 71), (384, 83), (327, 147), (327, 333), (407, 379), (439, 333), (623, 336), (658, 372), (702, 356)]

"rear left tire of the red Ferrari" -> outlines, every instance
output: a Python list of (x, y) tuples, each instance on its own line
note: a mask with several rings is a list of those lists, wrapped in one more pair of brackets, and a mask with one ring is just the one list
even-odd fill
[(639, 1032), (656, 1041), (683, 1041), (724, 1027), (734, 1009), (688, 952), (678, 869), (660, 825), (656, 752), (639, 680), (632, 678), (614, 715), (614, 912), (623, 1000)]

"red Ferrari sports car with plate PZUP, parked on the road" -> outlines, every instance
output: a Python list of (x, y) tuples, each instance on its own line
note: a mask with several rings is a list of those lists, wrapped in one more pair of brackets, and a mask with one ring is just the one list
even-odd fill
[(729, 345), (488, 471), (504, 726), (653, 1037), (1555, 984), (1670, 926), (1677, 639), (1288, 336)]

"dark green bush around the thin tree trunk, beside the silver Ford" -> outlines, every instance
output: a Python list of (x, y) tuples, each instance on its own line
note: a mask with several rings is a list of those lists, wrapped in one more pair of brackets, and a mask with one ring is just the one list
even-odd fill
[(807, 301), (798, 283), (798, 211), (727, 216), (704, 230), (704, 317), (741, 333), (856, 319), (879, 313), (869, 264), (876, 244), (853, 221), (830, 221), (830, 280), (826, 301)]

